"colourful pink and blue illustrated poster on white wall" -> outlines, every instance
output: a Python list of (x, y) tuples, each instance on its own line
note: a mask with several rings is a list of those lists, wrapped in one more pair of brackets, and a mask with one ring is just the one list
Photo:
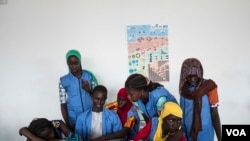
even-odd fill
[(128, 25), (129, 73), (169, 82), (168, 25)]

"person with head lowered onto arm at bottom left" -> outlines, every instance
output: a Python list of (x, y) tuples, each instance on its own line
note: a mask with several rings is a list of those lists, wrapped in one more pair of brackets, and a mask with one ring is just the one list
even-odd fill
[(36, 118), (28, 127), (22, 127), (19, 134), (27, 137), (27, 141), (60, 141), (63, 137), (69, 136), (71, 131), (61, 120)]

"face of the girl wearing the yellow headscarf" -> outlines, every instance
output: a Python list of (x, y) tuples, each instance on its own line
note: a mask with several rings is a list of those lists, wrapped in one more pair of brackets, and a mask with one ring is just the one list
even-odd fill
[(173, 133), (180, 130), (181, 118), (174, 115), (168, 115), (163, 119), (162, 129), (167, 133)]

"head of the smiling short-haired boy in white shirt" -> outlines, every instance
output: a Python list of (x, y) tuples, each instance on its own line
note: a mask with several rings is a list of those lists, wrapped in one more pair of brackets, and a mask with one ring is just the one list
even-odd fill
[(107, 99), (108, 90), (103, 85), (97, 85), (93, 90), (93, 112), (101, 112)]

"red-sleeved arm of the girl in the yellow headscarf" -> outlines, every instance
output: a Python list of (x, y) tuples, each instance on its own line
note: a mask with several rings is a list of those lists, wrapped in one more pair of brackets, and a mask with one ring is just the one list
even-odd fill
[(152, 120), (150, 120), (133, 138), (133, 141), (146, 140), (151, 132)]

